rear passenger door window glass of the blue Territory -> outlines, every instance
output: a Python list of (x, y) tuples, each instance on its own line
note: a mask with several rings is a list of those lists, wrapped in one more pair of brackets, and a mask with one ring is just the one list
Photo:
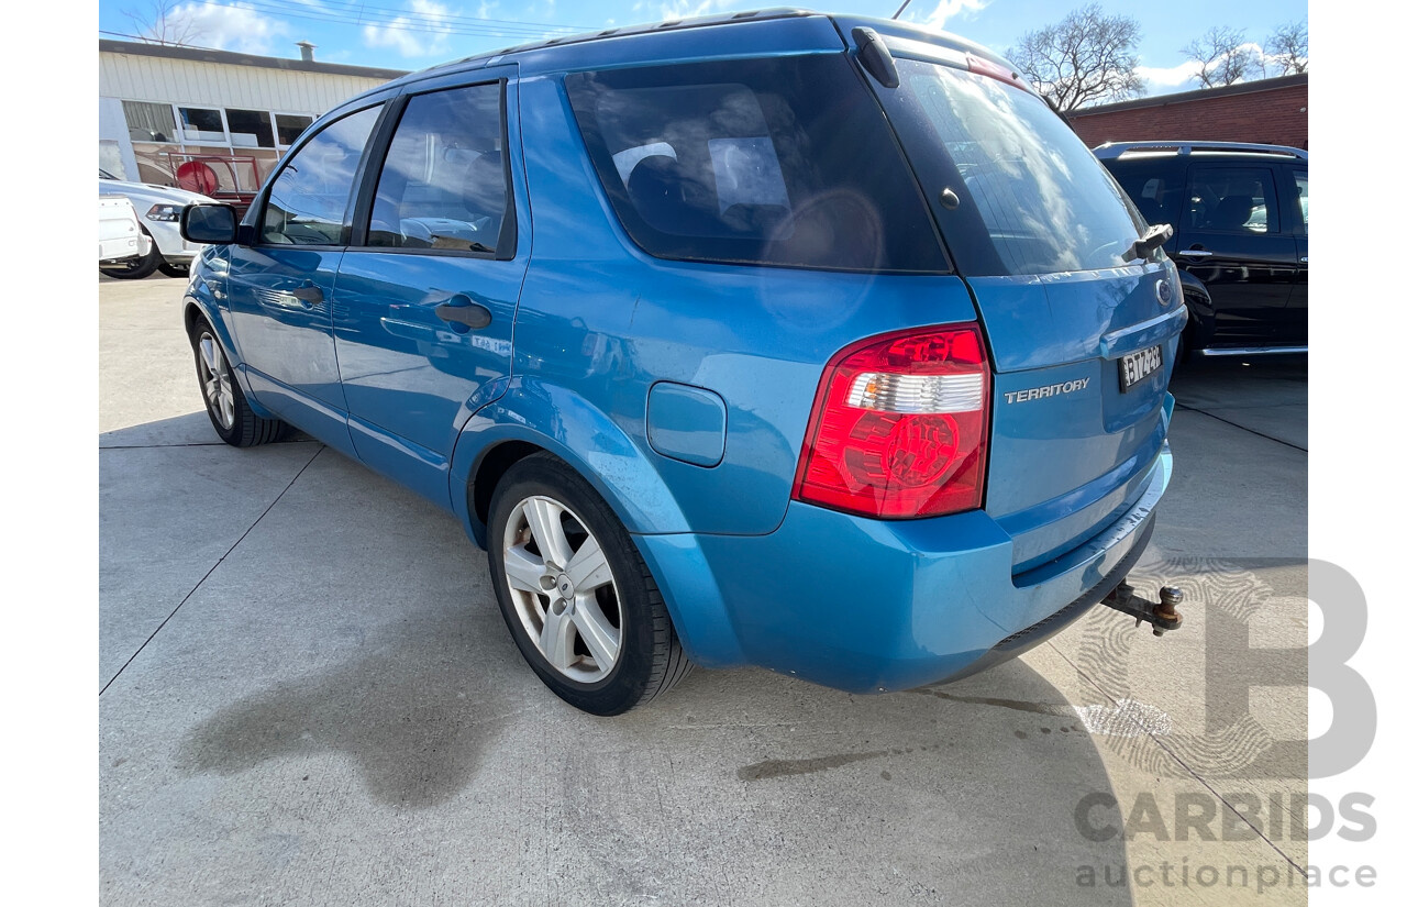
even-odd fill
[(376, 186), (369, 246), (494, 253), (508, 212), (499, 83), (405, 105)]

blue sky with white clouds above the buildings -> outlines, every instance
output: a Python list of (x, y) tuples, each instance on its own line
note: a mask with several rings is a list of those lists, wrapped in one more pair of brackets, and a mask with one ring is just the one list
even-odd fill
[[(815, 8), (888, 18), (902, 0), (837, 0)], [(196, 30), (200, 46), (297, 56), (298, 41), (325, 62), (422, 69), (480, 51), (561, 31), (592, 31), (682, 15), (729, 13), (781, 3), (753, 0), (167, 0), (172, 20)], [(1021, 34), (1054, 22), (1075, 0), (912, 0), (902, 18), (929, 22), (998, 52)], [(98, 30), (132, 34), (128, 11), (151, 17), (158, 0), (103, 0)], [(1106, 0), (1106, 13), (1142, 25), (1140, 56), (1150, 94), (1195, 87), (1179, 48), (1211, 25), (1245, 30), (1263, 42), (1283, 22), (1309, 18), (1309, 0), (1182, 0), (1178, 4)], [(1176, 14), (1172, 14), (1176, 10)], [(556, 31), (554, 31), (556, 30)], [(114, 35), (103, 35), (114, 37)]]

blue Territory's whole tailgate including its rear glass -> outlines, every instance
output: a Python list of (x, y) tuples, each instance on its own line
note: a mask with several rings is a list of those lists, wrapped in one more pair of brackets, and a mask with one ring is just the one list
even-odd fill
[(877, 93), (992, 347), (985, 509), (1023, 572), (1095, 534), (1152, 481), (1186, 311), (1162, 252), (1134, 257), (1142, 218), (1041, 98), (969, 72), (992, 63), (896, 52), (915, 58), (898, 59), (899, 86)]

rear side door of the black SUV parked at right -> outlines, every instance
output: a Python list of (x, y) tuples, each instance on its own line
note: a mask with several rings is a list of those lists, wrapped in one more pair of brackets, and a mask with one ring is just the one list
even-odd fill
[(1213, 346), (1283, 343), (1299, 267), (1271, 165), (1195, 163), (1188, 170), (1178, 263), (1207, 285)]

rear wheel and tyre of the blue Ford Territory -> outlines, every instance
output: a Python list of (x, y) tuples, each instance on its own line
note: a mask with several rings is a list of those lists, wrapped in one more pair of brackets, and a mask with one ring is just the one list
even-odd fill
[[(546, 554), (539, 536), (547, 539)], [(629, 533), (557, 457), (533, 454), (508, 470), (488, 506), (488, 540), (508, 630), (564, 702), (620, 714), (692, 671)]]

